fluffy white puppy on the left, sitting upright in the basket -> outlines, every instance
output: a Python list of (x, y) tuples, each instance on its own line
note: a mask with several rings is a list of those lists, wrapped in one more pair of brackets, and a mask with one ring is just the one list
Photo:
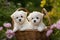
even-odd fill
[(16, 32), (17, 30), (24, 31), (26, 29), (29, 29), (29, 23), (26, 17), (27, 12), (24, 12), (22, 10), (20, 11), (17, 10), (11, 15), (11, 18), (14, 21), (13, 32)]

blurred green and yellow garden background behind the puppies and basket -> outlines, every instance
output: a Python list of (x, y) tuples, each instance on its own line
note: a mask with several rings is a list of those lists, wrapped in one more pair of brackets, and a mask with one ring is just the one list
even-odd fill
[[(56, 23), (60, 19), (60, 0), (0, 0), (0, 26), (3, 26), (4, 23), (11, 23), (10, 15), (20, 7), (28, 9), (29, 12), (41, 12), (42, 8), (45, 8), (48, 11), (51, 24)], [(49, 26), (46, 15), (43, 21)], [(0, 31), (0, 40), (6, 39), (6, 30), (7, 28), (3, 26), (3, 30)], [(16, 38), (14, 37), (11, 40), (16, 40)], [(50, 40), (60, 40), (60, 30), (55, 29), (50, 36)]]

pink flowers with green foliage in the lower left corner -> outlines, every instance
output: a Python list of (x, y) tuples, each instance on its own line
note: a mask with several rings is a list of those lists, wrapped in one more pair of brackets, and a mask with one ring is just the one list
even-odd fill
[(15, 33), (11, 30), (11, 26), (11, 23), (3, 23), (3, 27), (0, 27), (0, 40), (15, 40)]

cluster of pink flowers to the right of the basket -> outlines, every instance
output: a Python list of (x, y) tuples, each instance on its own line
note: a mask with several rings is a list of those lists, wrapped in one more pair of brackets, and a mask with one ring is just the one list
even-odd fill
[(60, 30), (60, 20), (58, 20), (56, 23), (51, 25), (50, 29), (46, 33), (46, 36), (49, 37), (52, 34), (52, 32), (54, 31), (54, 29)]

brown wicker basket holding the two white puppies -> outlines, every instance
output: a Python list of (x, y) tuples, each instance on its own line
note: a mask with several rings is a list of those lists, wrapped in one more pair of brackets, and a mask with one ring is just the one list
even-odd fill
[[(19, 8), (17, 10), (24, 10), (28, 12), (25, 8)], [(45, 9), (43, 9), (45, 10)], [(42, 11), (43, 12), (43, 11)], [(47, 15), (48, 16), (48, 15)], [(49, 23), (50, 19), (48, 17)], [(15, 32), (16, 39), (17, 40), (49, 40), (49, 38), (46, 37), (46, 31), (39, 32), (37, 30), (26, 30), (26, 31), (17, 31)]]

